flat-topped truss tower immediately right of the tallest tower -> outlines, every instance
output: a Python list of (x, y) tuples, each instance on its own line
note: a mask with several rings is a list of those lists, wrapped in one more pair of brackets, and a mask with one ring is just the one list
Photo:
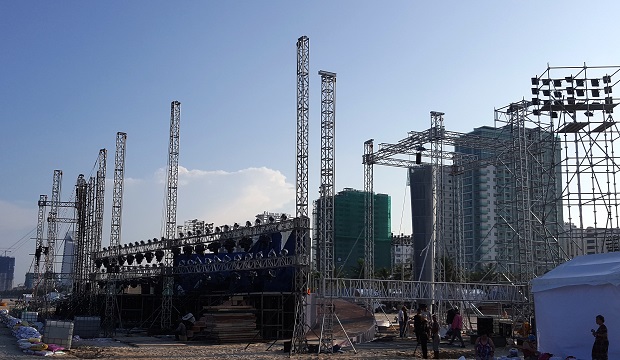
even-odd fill
[[(319, 71), (321, 75), (321, 187), (319, 221), (319, 246), (321, 291), (323, 297), (320, 349), (333, 351), (334, 302), (331, 282), (334, 277), (334, 187), (336, 145), (336, 74)], [(319, 349), (319, 350), (320, 350)]]

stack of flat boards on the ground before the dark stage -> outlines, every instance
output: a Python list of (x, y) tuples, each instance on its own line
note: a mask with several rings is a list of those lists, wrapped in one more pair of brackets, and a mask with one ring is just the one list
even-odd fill
[(217, 344), (243, 343), (260, 340), (256, 315), (249, 309), (218, 309), (205, 313), (194, 323), (192, 332), (208, 342)]

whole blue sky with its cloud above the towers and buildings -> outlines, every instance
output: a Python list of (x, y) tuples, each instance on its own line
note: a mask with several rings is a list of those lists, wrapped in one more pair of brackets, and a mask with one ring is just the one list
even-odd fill
[[(620, 3), (595, 1), (0, 1), (0, 254), (23, 282), (40, 194), (113, 177), (127, 133), (121, 242), (161, 233), (170, 102), (182, 104), (177, 219), (294, 213), (296, 47), (310, 38), (310, 199), (320, 178), (320, 78), (337, 73), (336, 190), (363, 188), (363, 142), (396, 142), (445, 112), (493, 125), (551, 66), (617, 65)], [(393, 232), (410, 232), (406, 171), (375, 169)], [(104, 245), (109, 242), (108, 182)], [(404, 209), (404, 211), (403, 211)], [(61, 227), (61, 232), (66, 231)]]

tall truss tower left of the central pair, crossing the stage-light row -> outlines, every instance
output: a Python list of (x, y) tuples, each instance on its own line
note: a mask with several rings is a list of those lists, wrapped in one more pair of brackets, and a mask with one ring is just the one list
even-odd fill
[[(177, 190), (179, 185), (179, 135), (181, 125), (181, 103), (170, 104), (170, 143), (168, 146), (168, 192), (166, 196), (166, 240), (176, 238)], [(174, 255), (168, 251), (164, 257), (166, 271), (172, 268)], [(172, 294), (174, 277), (166, 274), (161, 304), (161, 328), (168, 329), (172, 323)]]

